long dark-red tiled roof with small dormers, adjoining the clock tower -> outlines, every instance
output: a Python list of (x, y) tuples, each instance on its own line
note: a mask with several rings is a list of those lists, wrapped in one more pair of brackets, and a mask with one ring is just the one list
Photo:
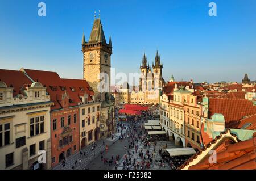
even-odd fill
[[(90, 91), (90, 86), (88, 82), (81, 79), (63, 79), (60, 78), (56, 72), (52, 71), (42, 71), (42, 70), (30, 70), (24, 69), (27, 75), (32, 78), (34, 81), (38, 80), (43, 85), (46, 85), (46, 91), (51, 95), (51, 100), (54, 102), (54, 106), (51, 107), (52, 110), (60, 109), (61, 106), (61, 96), (67, 91), (69, 99), (72, 102), (69, 102), (69, 106), (76, 106), (77, 103), (81, 102), (79, 96), (87, 93), (88, 95), (94, 95), (93, 91)], [(52, 89), (56, 87), (56, 91)], [(65, 90), (61, 90), (61, 87), (65, 87)], [(81, 90), (81, 87), (84, 88), (84, 91)], [(71, 88), (75, 88), (75, 91), (72, 91)], [(88, 100), (92, 100), (88, 96)]]

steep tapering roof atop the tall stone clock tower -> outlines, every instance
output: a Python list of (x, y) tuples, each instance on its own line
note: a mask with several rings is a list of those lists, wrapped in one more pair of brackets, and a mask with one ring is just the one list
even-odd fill
[(97, 43), (97, 42), (107, 44), (100, 18), (94, 20), (92, 32), (90, 33), (90, 38), (89, 38), (89, 43)]

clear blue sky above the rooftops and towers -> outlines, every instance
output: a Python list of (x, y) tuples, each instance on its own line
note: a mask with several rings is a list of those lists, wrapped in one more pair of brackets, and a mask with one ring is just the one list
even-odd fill
[[(216, 17), (208, 15), (210, 2)], [(82, 78), (82, 31), (88, 40), (98, 10), (106, 39), (112, 36), (115, 72), (138, 72), (143, 52), (152, 65), (158, 49), (166, 81), (171, 74), (177, 81), (256, 79), (255, 0), (1, 0), (0, 68)]]

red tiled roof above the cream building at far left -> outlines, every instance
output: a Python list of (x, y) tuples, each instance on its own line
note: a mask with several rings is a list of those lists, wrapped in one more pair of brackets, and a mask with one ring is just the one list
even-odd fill
[(13, 96), (22, 93), (24, 85), (31, 85), (30, 79), (27, 78), (21, 71), (0, 69), (0, 79), (5, 82), (8, 87), (13, 86)]

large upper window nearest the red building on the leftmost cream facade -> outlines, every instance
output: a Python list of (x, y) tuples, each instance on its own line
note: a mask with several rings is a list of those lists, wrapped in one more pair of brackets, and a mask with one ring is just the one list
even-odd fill
[(30, 118), (30, 136), (44, 132), (44, 116)]

